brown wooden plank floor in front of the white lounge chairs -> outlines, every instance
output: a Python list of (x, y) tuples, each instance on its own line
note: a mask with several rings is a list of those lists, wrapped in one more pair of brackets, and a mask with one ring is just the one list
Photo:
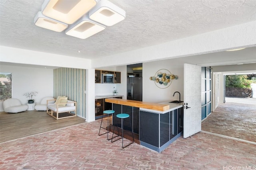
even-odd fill
[(0, 112), (0, 143), (85, 123), (81, 117), (56, 120), (46, 111)]

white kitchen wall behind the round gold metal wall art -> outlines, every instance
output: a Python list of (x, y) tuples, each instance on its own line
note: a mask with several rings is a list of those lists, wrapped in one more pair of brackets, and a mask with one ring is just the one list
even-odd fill
[[(164, 102), (168, 100), (178, 100), (179, 95), (174, 92), (180, 92), (181, 100), (183, 100), (184, 85), (184, 66), (181, 63), (173, 63), (171, 59), (143, 63), (143, 82), (142, 82), (142, 101), (143, 102)], [(177, 80), (172, 80), (172, 84), (168, 88), (161, 89), (156, 86), (154, 81), (150, 80), (150, 76), (154, 76), (160, 69), (169, 70), (172, 74), (177, 75)]]

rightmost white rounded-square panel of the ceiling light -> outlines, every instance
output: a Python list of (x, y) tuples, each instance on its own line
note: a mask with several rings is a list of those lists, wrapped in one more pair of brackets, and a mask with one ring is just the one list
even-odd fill
[(89, 18), (107, 26), (125, 19), (125, 11), (108, 0), (101, 0), (89, 11)]

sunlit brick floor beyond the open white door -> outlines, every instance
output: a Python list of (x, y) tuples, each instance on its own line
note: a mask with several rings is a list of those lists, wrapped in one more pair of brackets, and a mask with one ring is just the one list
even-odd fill
[(202, 122), (202, 130), (256, 142), (256, 103), (218, 104)]

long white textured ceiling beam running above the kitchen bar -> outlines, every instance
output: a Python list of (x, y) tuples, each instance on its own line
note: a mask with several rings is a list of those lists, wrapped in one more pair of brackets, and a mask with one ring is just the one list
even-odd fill
[[(145, 63), (186, 56), (192, 57), (228, 49), (254, 47), (256, 44), (255, 27), (256, 21), (252, 21), (176, 41), (111, 55), (108, 56), (107, 60), (104, 57), (96, 58), (92, 60), (92, 68)], [(251, 61), (255, 61), (255, 59)], [(228, 61), (228, 63), (237, 63), (237, 61)], [(212, 63), (208, 66), (214, 64), (220, 65), (223, 62)]]

